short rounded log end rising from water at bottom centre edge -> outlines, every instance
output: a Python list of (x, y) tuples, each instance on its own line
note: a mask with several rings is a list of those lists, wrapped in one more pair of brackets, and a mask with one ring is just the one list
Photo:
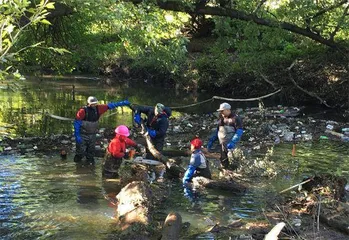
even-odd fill
[(179, 213), (171, 212), (167, 215), (162, 228), (161, 240), (177, 240), (182, 228), (182, 217)]

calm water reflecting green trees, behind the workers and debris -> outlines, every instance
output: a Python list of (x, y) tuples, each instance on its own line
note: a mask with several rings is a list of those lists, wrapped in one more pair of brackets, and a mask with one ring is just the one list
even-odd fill
[[(71, 134), (72, 122), (53, 119), (47, 117), (45, 113), (74, 118), (76, 111), (85, 105), (90, 95), (96, 96), (100, 103), (128, 98), (131, 103), (141, 105), (162, 102), (172, 106), (197, 101), (197, 96), (193, 94), (176, 95), (174, 90), (152, 87), (145, 83), (134, 83), (134, 85), (115, 83), (111, 86), (80, 78), (44, 80), (29, 78), (21, 84), (24, 87), (15, 92), (0, 89), (0, 133), (4, 135)], [(202, 106), (199, 109), (203, 109)], [(131, 125), (131, 112), (127, 108), (118, 110), (120, 114), (103, 116), (100, 120), (101, 127), (111, 127), (121, 123)], [(195, 111), (195, 109), (190, 110)]]

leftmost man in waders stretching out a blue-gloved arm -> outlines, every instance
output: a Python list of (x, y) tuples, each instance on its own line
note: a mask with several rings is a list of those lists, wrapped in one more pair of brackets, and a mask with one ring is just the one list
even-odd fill
[(128, 100), (98, 104), (96, 97), (88, 97), (87, 105), (79, 109), (73, 123), (76, 141), (74, 162), (80, 163), (83, 157), (86, 157), (88, 164), (93, 165), (95, 163), (94, 154), (99, 118), (108, 110), (129, 105)]

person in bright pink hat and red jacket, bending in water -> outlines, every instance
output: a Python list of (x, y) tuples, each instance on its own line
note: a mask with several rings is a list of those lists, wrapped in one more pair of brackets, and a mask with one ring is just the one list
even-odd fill
[(115, 137), (108, 145), (105, 161), (103, 163), (103, 177), (117, 178), (118, 170), (121, 166), (122, 159), (126, 154), (126, 148), (136, 147), (137, 143), (129, 139), (130, 131), (125, 125), (120, 125), (115, 129)]

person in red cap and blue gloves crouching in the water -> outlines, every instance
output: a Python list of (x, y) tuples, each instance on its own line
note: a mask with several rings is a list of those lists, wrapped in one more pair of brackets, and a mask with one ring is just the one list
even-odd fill
[(196, 137), (190, 142), (190, 162), (188, 169), (184, 173), (183, 186), (186, 187), (193, 177), (202, 176), (211, 179), (211, 171), (208, 166), (208, 161), (201, 151), (202, 141)]

